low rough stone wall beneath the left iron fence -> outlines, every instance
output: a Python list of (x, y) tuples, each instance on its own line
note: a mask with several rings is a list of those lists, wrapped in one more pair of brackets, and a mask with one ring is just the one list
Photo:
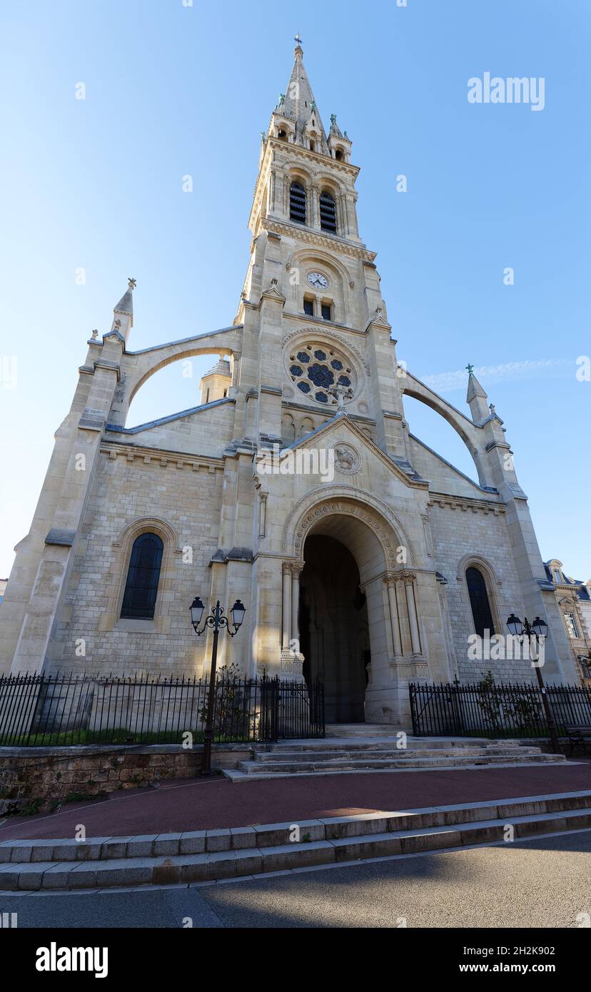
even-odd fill
[[(251, 750), (249, 744), (214, 744), (211, 766), (235, 768)], [(41, 812), (167, 779), (192, 779), (201, 752), (201, 744), (0, 747), (0, 814)]]

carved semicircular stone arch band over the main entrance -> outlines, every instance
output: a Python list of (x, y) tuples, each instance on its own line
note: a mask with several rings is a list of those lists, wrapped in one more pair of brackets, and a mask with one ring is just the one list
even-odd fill
[[(330, 488), (333, 490), (332, 494)], [(375, 497), (371, 497), (371, 503), (374, 505), (370, 505), (367, 493), (353, 486), (322, 487), (308, 493), (296, 504), (286, 521), (282, 546), (284, 552), (290, 553), (293, 549), (294, 554), (301, 558), (307, 532), (313, 524), (324, 516), (346, 515), (361, 520), (376, 534), (384, 549), (388, 567), (397, 567), (397, 553), (401, 544), (407, 548), (409, 561), (414, 563), (411, 542), (396, 515)]]

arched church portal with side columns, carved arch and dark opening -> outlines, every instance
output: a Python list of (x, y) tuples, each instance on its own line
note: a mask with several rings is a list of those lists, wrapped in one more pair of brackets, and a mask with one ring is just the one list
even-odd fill
[(407, 680), (426, 668), (411, 541), (373, 495), (344, 484), (315, 495), (296, 504), (284, 529), (282, 671), (301, 673), (303, 662), (306, 679), (324, 682), (328, 723), (402, 719), (406, 727)]

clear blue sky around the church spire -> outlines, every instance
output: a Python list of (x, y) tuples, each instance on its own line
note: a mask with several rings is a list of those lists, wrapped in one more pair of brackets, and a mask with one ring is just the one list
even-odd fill
[[(591, 5), (32, 0), (3, 5), (1, 32), (0, 577), (29, 529), (85, 341), (108, 329), (127, 277), (132, 349), (232, 322), (260, 132), (297, 31), (324, 123), (338, 114), (362, 167), (360, 230), (378, 251), (399, 357), (465, 410), (459, 373), (476, 366), (542, 556), (591, 575), (591, 383), (575, 378), (591, 352)], [(542, 76), (544, 109), (468, 103), (468, 79), (485, 71)], [(128, 423), (194, 405), (214, 361), (195, 360), (192, 380), (159, 373)], [(414, 434), (473, 475), (457, 435), (407, 403)]]

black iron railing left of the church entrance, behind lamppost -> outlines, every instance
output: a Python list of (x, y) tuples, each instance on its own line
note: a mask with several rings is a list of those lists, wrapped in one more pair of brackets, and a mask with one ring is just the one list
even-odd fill
[[(0, 677), (0, 746), (182, 744), (202, 740), (207, 680)], [(321, 682), (220, 678), (214, 741), (324, 736)]]

